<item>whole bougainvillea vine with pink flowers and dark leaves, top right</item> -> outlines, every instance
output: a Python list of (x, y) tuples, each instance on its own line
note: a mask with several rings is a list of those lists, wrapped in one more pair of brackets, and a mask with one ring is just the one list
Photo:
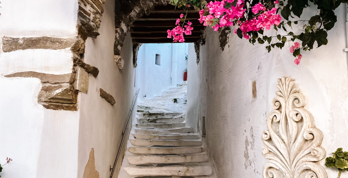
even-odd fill
[[(334, 10), (341, 3), (348, 0), (219, 0), (206, 2), (205, 0), (170, 0), (171, 4), (188, 10), (195, 8), (199, 11), (200, 23), (209, 26), (214, 31), (224, 27), (234, 27), (235, 34), (250, 43), (267, 44), (266, 50), (282, 49), (286, 43), (293, 44), (290, 52), (300, 63), (301, 51), (311, 50), (326, 45), (327, 32), (337, 22)], [(311, 12), (309, 19), (301, 19), (303, 10), (310, 6), (310, 2), (317, 7)], [(187, 13), (186, 13), (187, 14)], [(280, 16), (281, 15), (281, 16)], [(184, 42), (184, 36), (190, 35), (191, 22), (186, 22), (187, 15), (181, 14), (176, 20), (176, 27), (168, 30), (168, 38), (174, 42)], [(293, 20), (299, 17), (300, 20)], [(276, 35), (266, 35), (264, 32), (271, 28)], [(315, 44), (316, 43), (316, 44)]]

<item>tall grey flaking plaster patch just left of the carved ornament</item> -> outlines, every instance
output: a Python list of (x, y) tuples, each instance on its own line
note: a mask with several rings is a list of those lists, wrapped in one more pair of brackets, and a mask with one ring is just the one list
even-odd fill
[[(250, 140), (250, 141), (249, 141)], [(245, 150), (244, 150), (244, 167), (245, 170), (251, 169), (254, 172), (254, 175), (259, 174), (256, 171), (256, 153), (255, 153), (255, 136), (253, 127), (250, 128), (250, 138), (245, 136)]]

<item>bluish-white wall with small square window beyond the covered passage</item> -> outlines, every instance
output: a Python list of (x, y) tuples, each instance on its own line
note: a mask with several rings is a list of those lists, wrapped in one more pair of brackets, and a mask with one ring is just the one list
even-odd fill
[[(160, 65), (155, 64), (156, 54), (160, 54)], [(139, 99), (151, 99), (169, 86), (182, 83), (187, 54), (188, 44), (185, 43), (143, 44), (136, 68)]]

